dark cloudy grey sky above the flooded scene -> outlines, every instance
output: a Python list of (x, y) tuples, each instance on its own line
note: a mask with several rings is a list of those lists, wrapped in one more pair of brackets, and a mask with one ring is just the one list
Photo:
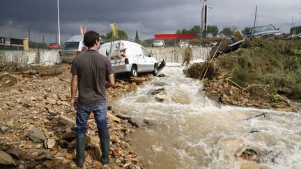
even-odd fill
[[(55, 42), (58, 35), (57, 0), (0, 0), (0, 36), (9, 37), (8, 22), (12, 22), (13, 38), (28, 38), (46, 43)], [(275, 24), (288, 33), (292, 24), (301, 24), (300, 0), (208, 0), (208, 24), (242, 30), (256, 25)], [(106, 34), (109, 24), (134, 39), (153, 38), (155, 33), (175, 33), (177, 29), (191, 29), (201, 24), (200, 0), (59, 0), (61, 42), (86, 30)]]

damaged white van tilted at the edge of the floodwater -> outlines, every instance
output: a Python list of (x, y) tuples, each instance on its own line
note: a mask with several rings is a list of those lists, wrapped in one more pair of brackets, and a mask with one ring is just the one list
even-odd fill
[(165, 61), (157, 62), (141, 45), (127, 40), (107, 42), (100, 46), (99, 53), (111, 58), (114, 73), (130, 72), (137, 77), (141, 72), (152, 72), (157, 76)]

